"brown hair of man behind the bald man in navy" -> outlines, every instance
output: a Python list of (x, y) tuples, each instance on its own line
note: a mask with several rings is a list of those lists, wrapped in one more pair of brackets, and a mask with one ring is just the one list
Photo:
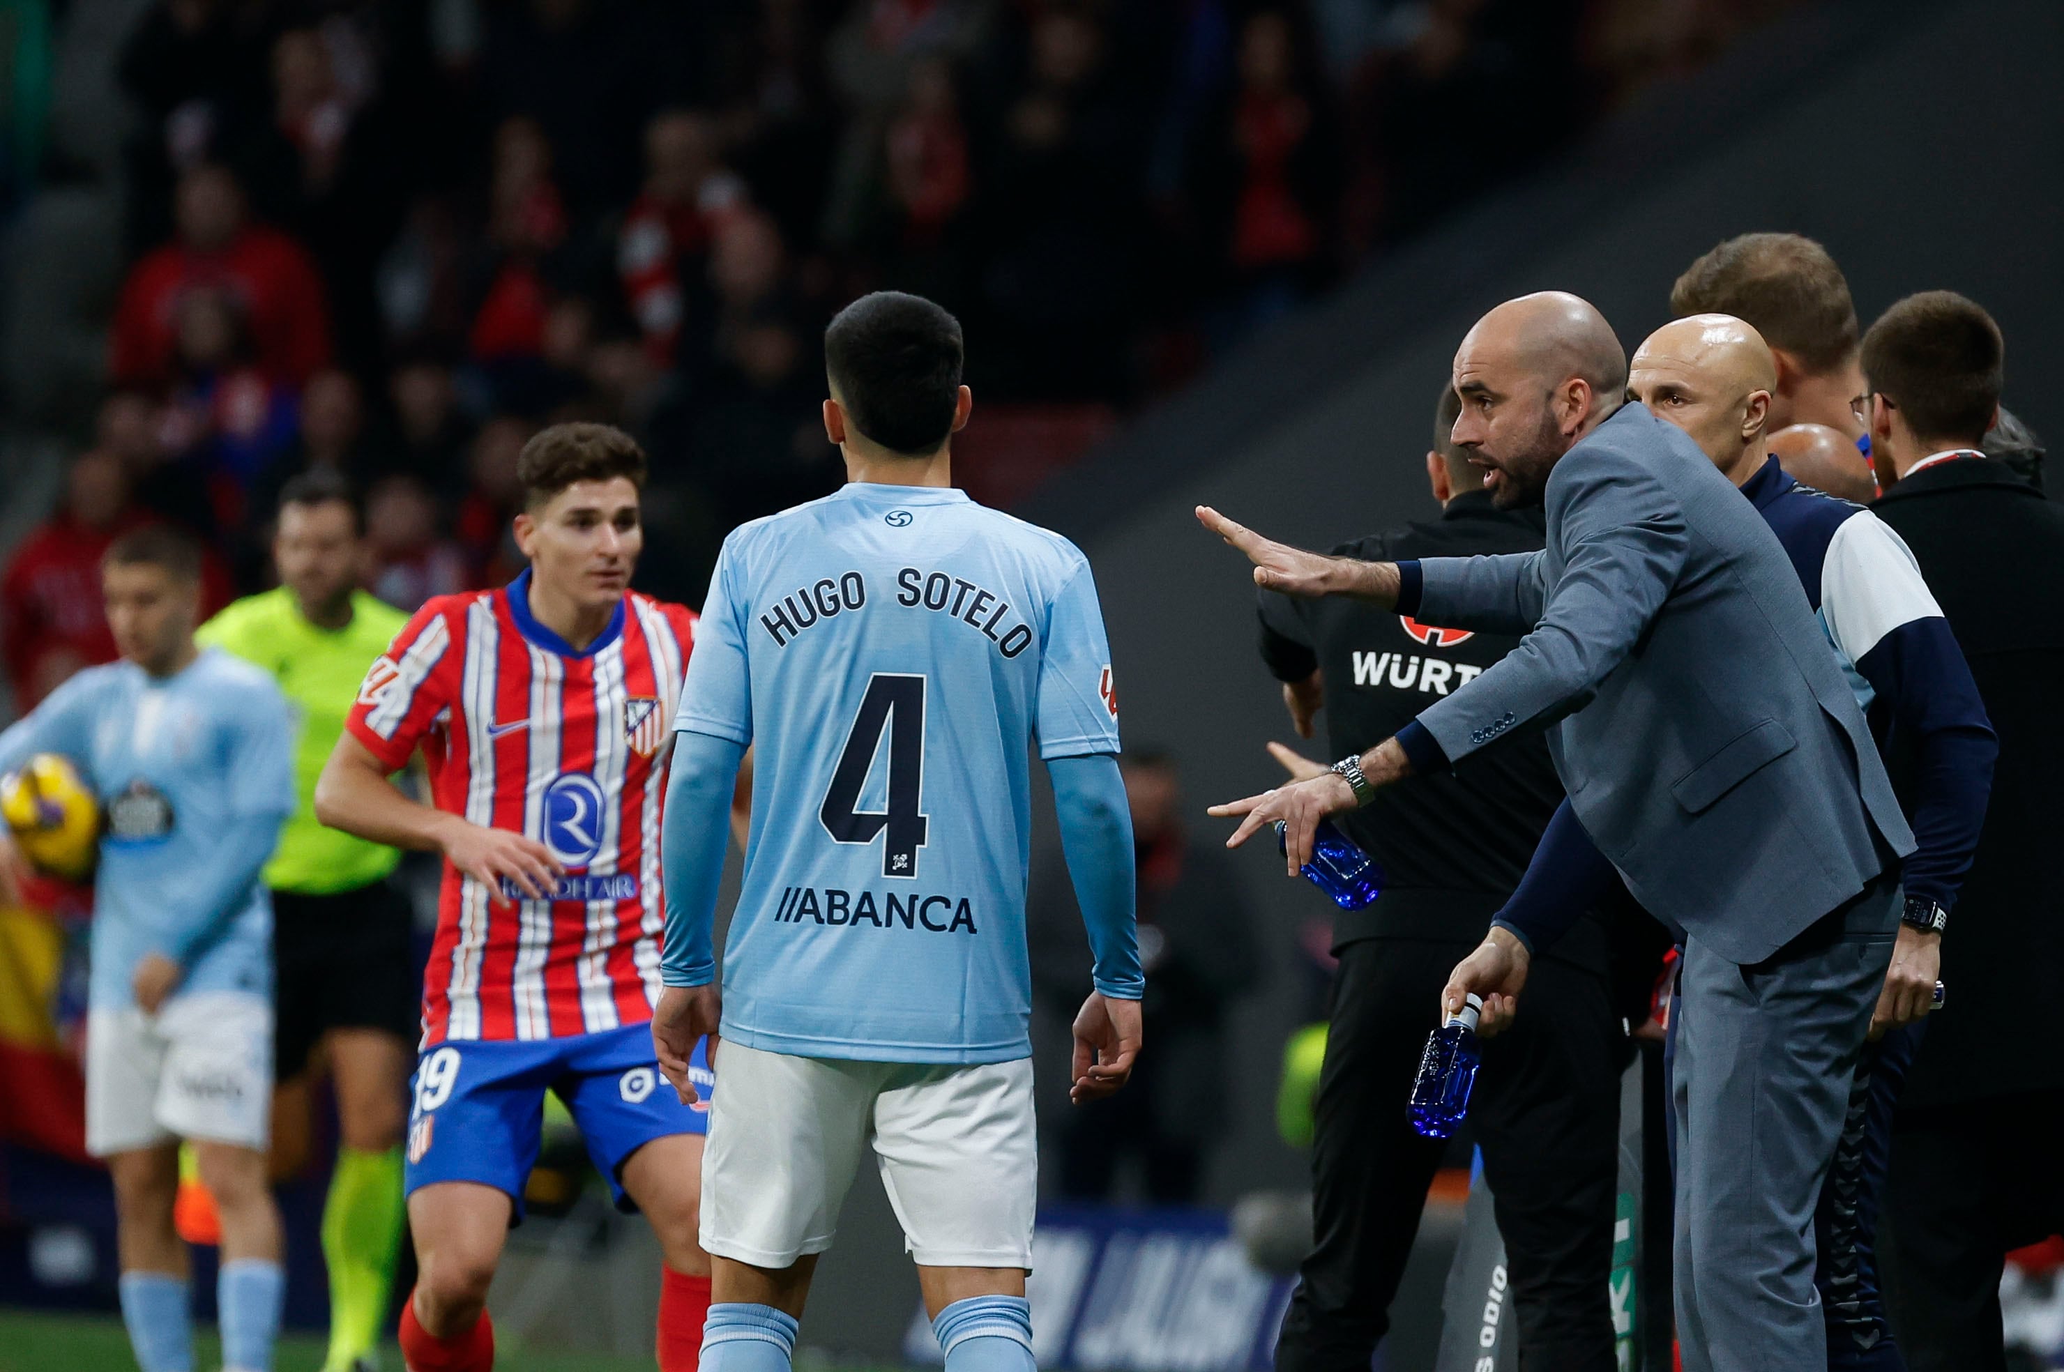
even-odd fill
[(1732, 314), (1812, 371), (1856, 355), (1856, 301), (1827, 248), (1800, 233), (1742, 233), (1684, 268), (1670, 312)]

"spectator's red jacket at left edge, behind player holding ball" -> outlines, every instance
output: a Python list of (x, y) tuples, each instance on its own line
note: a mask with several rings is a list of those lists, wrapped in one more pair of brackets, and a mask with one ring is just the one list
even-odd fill
[[(78, 666), (116, 660), (116, 640), (101, 607), (101, 557), (122, 534), (151, 524), (132, 512), (111, 528), (87, 528), (60, 514), (23, 538), (0, 576), (0, 652), (6, 654), (14, 708), (29, 710), (58, 685), (50, 658), (64, 654)], [(229, 574), (208, 555), (200, 571), (200, 615), (229, 605)]]

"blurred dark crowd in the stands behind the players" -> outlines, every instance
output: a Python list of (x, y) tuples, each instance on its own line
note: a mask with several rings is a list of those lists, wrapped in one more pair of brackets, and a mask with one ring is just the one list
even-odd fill
[(1785, 2), (157, 0), (107, 398), (6, 574), (19, 701), (107, 656), (114, 534), (186, 522), (256, 588), (310, 466), (384, 598), (510, 576), (566, 417), (646, 442), (640, 580), (700, 600), (838, 483), (817, 334), (869, 289), (964, 320), (968, 444), (1065, 458)]

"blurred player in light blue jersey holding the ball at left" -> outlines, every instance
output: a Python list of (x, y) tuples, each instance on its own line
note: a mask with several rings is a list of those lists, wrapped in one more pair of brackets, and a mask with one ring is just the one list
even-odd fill
[(200, 551), (186, 536), (120, 538), (103, 588), (122, 660), (78, 673), (0, 734), (0, 772), (62, 753), (105, 815), (87, 1151), (116, 1182), (136, 1364), (194, 1366), (186, 1246), (171, 1226), (186, 1139), (223, 1223), (223, 1368), (266, 1372), (285, 1275), (264, 1174), (272, 904), (258, 869), (293, 811), (293, 728), (268, 675), (196, 650)]

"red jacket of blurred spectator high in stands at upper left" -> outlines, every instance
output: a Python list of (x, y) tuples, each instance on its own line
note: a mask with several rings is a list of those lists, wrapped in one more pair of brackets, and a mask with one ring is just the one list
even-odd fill
[(130, 270), (114, 326), (118, 386), (171, 380), (180, 295), (192, 289), (225, 289), (235, 297), (258, 363), (275, 380), (299, 388), (330, 363), (330, 314), (316, 262), (285, 233), (248, 227), (223, 252), (165, 243)]

